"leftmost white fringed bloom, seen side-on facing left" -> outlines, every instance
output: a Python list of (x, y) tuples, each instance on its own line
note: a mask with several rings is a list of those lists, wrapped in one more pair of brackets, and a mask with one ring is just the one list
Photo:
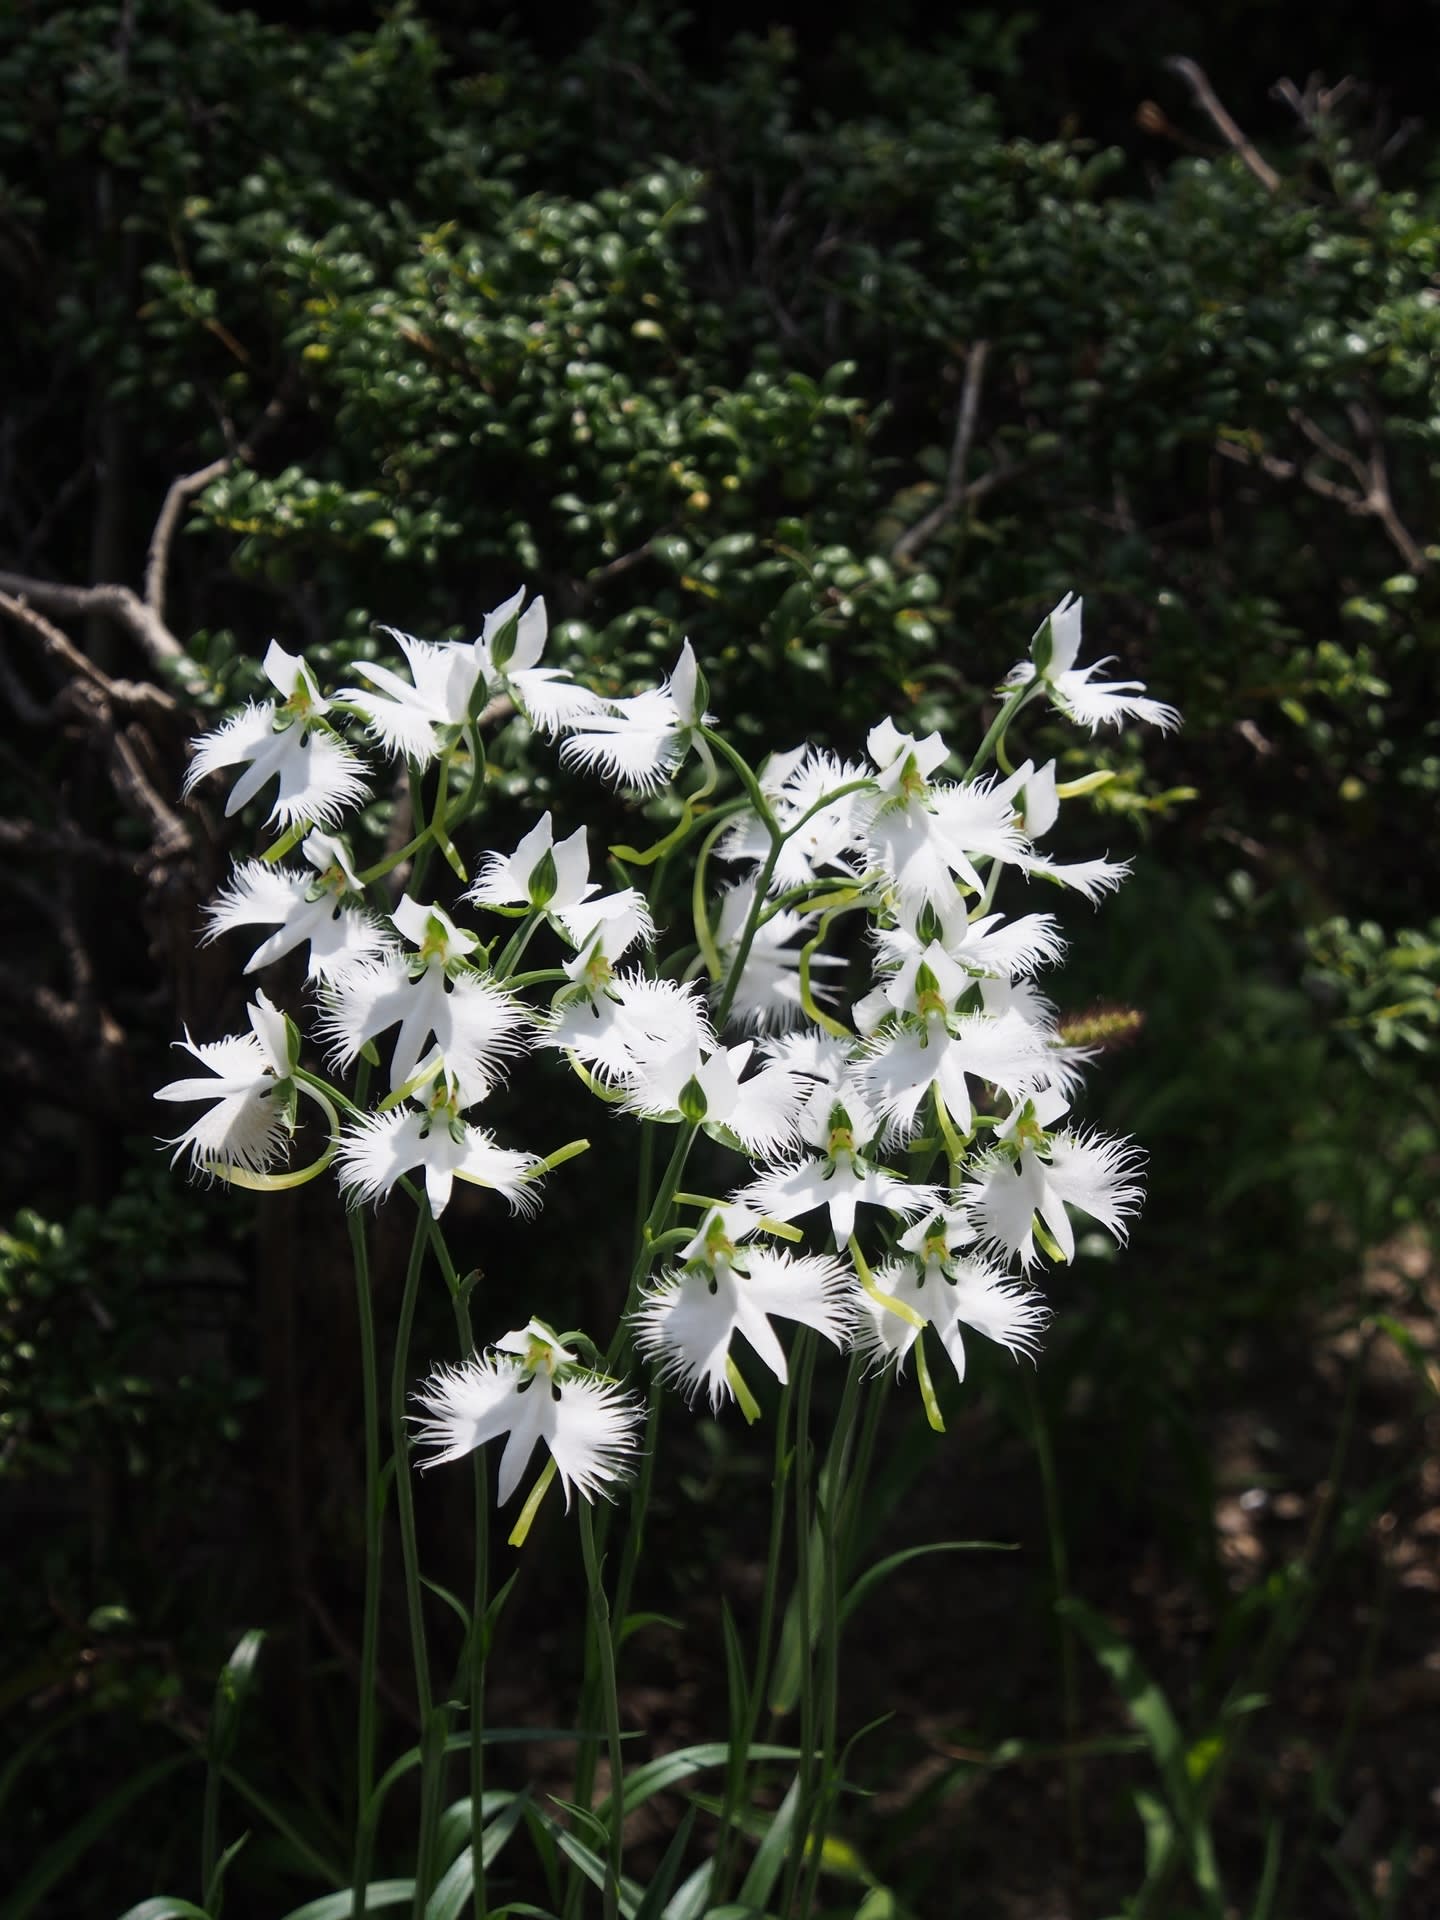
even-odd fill
[(284, 1152), (294, 1121), (294, 1102), (284, 1098), (294, 1069), (292, 1031), (263, 993), (246, 1012), (250, 1033), (192, 1041), (186, 1031), (184, 1041), (175, 1043), (209, 1071), (171, 1081), (157, 1089), (156, 1098), (205, 1100), (209, 1112), (165, 1140), (175, 1148), (171, 1165), (188, 1152), (198, 1173), (215, 1167), (263, 1173)]

